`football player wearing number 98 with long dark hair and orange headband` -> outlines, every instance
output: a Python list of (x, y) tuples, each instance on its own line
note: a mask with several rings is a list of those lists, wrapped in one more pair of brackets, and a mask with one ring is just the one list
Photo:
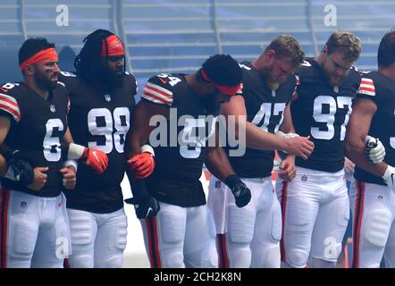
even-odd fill
[(77, 184), (66, 191), (71, 229), (71, 267), (122, 267), (127, 220), (121, 181), (123, 145), (135, 105), (136, 80), (125, 71), (120, 38), (97, 29), (84, 39), (75, 59), (76, 72), (59, 80), (70, 94), (68, 122), (76, 143), (97, 148), (108, 156), (105, 172), (79, 164)]

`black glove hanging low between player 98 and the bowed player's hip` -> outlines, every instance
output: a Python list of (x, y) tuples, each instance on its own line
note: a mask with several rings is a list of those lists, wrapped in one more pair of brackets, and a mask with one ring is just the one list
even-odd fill
[(136, 216), (139, 219), (156, 216), (161, 209), (159, 202), (148, 193), (144, 181), (138, 181), (131, 186), (133, 198), (125, 199), (125, 203), (134, 205)]

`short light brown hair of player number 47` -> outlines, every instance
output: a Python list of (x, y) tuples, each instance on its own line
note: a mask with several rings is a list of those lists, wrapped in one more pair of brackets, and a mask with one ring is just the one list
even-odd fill
[(300, 65), (305, 60), (305, 52), (298, 40), (288, 35), (273, 38), (269, 46), (266, 46), (265, 52), (268, 50), (273, 50), (276, 58), (289, 57), (295, 65)]

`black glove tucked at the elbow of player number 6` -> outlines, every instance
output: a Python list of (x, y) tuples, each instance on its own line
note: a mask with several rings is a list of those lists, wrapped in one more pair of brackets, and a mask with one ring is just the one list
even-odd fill
[(28, 157), (22, 156), (19, 150), (12, 150), (4, 157), (8, 163), (4, 178), (17, 181), (23, 186), (28, 186), (34, 181), (33, 164)]

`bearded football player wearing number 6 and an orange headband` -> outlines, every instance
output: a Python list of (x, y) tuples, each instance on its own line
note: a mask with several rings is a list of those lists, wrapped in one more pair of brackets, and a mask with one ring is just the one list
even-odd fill
[(24, 81), (0, 88), (0, 144), (7, 147), (0, 156), (0, 267), (63, 267), (70, 233), (62, 189), (76, 182), (76, 164), (66, 159), (103, 170), (105, 155), (71, 143), (55, 45), (30, 38), (19, 63)]

